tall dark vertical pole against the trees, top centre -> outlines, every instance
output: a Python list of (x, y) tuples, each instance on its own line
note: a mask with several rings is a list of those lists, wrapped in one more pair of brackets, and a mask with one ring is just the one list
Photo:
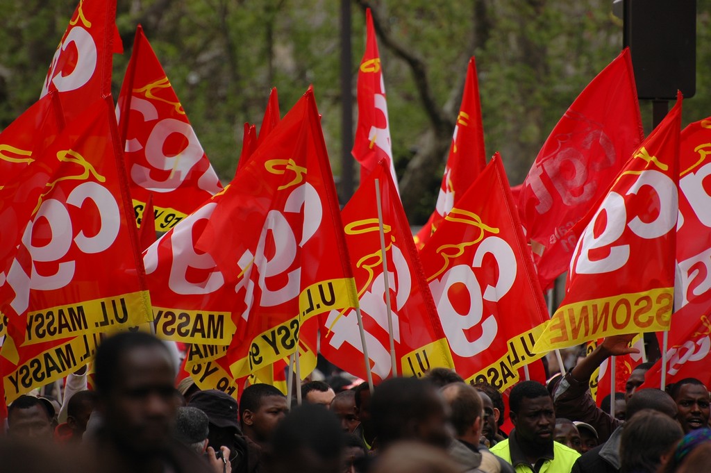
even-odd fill
[(353, 196), (353, 76), (351, 0), (341, 0), (341, 203)]

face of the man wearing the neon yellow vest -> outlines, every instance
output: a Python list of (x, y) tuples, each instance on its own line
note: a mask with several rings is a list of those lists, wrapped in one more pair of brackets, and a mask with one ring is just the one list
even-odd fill
[(516, 435), (523, 442), (538, 445), (550, 444), (555, 429), (553, 400), (548, 396), (523, 398), (518, 413), (511, 413)]

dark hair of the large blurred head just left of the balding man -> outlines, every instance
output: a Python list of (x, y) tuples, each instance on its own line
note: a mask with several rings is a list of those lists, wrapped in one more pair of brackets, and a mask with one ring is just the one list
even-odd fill
[(412, 421), (432, 415), (439, 403), (434, 387), (419, 378), (390, 378), (378, 385), (370, 398), (370, 413), (378, 445), (412, 437)]

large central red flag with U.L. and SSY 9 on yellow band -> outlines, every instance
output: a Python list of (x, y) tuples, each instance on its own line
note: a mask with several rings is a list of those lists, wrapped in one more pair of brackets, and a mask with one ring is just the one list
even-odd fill
[(196, 248), (237, 291), (237, 378), (291, 354), (309, 319), (358, 303), (310, 88), (225, 188)]

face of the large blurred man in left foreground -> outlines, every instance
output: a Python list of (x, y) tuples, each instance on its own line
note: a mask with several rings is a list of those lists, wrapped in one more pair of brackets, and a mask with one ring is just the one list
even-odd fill
[(102, 416), (119, 445), (156, 452), (169, 442), (178, 408), (170, 356), (161, 346), (139, 346), (121, 357), (114, 388), (100, 403)]

